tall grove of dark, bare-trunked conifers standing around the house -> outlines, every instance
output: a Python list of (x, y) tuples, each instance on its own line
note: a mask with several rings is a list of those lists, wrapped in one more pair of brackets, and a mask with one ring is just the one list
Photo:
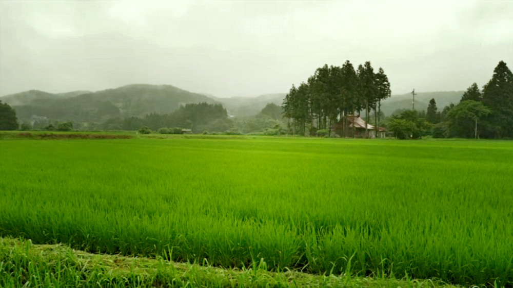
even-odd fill
[(381, 101), (390, 93), (390, 83), (382, 68), (374, 73), (367, 61), (354, 70), (346, 61), (342, 67), (326, 64), (315, 70), (306, 83), (292, 85), (282, 107), (293, 134), (315, 135), (317, 130), (330, 130), (339, 120), (345, 122), (344, 116), (360, 114), (362, 110), (365, 119), (374, 111), (377, 126)]

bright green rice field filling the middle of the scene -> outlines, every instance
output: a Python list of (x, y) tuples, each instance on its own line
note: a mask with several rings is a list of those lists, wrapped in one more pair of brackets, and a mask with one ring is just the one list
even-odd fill
[(0, 236), (511, 286), (512, 175), (511, 141), (0, 139)]

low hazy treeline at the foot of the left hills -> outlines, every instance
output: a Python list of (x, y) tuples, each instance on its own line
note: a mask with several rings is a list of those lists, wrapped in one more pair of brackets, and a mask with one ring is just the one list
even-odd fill
[[(14, 109), (7, 104), (2, 104), (0, 108), (0, 128), (3, 127), (6, 130), (138, 130), (142, 133), (144, 131), (144, 133), (181, 134), (183, 129), (191, 129), (195, 134), (213, 132), (232, 135), (282, 135), (290, 133), (283, 123), (282, 108), (273, 103), (268, 103), (259, 114), (248, 117), (230, 118), (221, 104), (199, 103), (182, 105), (171, 114), (150, 113), (144, 117), (112, 117), (100, 123), (62, 122), (37, 117), (33, 122), (24, 121), (21, 125), (16, 120)], [(3, 113), (4, 110), (8, 113)], [(8, 126), (7, 123), (9, 123)]]

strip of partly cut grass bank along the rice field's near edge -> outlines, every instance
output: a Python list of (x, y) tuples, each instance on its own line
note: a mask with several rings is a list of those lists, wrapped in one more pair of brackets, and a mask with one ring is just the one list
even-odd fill
[(353, 278), (345, 274), (310, 275), (267, 271), (263, 259), (242, 270), (219, 269), (203, 262), (173, 263), (157, 259), (98, 255), (62, 245), (32, 245), (30, 240), (0, 238), (0, 287), (366, 287), (451, 288), (437, 281), (409, 277)]

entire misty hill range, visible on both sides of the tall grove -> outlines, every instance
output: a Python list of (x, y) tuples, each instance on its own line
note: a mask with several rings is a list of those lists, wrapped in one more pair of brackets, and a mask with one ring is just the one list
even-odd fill
[[(464, 91), (420, 92), (415, 97), (415, 108), (426, 110), (434, 98), (439, 110), (450, 103), (458, 103)], [(77, 122), (102, 121), (113, 117), (142, 117), (150, 113), (169, 114), (186, 103), (221, 103), (232, 116), (258, 114), (267, 103), (281, 105), (285, 93), (265, 94), (258, 97), (218, 98), (198, 94), (172, 85), (131, 84), (103, 91), (73, 91), (52, 94), (31, 90), (0, 97), (11, 105), (19, 119), (34, 116), (52, 120)], [(397, 109), (411, 109), (411, 94), (392, 95), (381, 103), (386, 116)]]

